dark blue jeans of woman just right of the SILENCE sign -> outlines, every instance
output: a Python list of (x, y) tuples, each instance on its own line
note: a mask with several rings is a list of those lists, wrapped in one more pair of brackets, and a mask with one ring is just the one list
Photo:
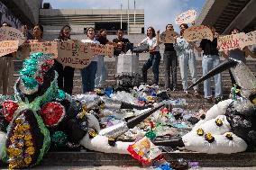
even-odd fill
[(92, 61), (89, 66), (81, 69), (83, 93), (92, 92), (95, 89), (97, 62)]

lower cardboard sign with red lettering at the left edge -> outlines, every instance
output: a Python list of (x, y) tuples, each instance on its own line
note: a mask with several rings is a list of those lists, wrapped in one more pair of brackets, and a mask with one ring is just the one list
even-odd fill
[(3, 57), (6, 54), (10, 54), (17, 51), (18, 45), (19, 45), (19, 40), (0, 41), (0, 57)]

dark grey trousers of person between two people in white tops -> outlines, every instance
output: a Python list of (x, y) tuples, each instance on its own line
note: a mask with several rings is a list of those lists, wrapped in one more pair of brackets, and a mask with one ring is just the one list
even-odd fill
[[(165, 88), (177, 87), (177, 65), (178, 57), (176, 51), (164, 51), (163, 53)], [(172, 83), (170, 84), (170, 73)]]

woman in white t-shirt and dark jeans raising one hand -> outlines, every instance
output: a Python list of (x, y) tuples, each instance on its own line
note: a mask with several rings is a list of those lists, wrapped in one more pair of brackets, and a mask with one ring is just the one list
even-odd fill
[(156, 39), (156, 32), (153, 27), (149, 27), (147, 30), (147, 38), (142, 40), (139, 44), (146, 44), (149, 46), (150, 58), (146, 61), (146, 63), (142, 67), (142, 77), (143, 83), (147, 84), (147, 72), (148, 69), (152, 66), (152, 71), (154, 74), (153, 84), (159, 84), (159, 66), (160, 66), (160, 48), (158, 46), (158, 41)]

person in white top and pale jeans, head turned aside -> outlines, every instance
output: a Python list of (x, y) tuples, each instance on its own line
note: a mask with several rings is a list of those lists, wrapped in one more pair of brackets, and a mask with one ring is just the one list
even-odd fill
[[(192, 76), (192, 82), (197, 81), (197, 67), (196, 67), (196, 56), (194, 54), (194, 47), (187, 40), (184, 39), (183, 33), (188, 28), (187, 23), (182, 23), (180, 26), (180, 37), (175, 37), (175, 43), (173, 44), (174, 49), (177, 51), (179, 58), (180, 76), (182, 86), (185, 94), (187, 92), (187, 66), (189, 67), (190, 74)], [(198, 86), (194, 87), (194, 94), (198, 94)]]

